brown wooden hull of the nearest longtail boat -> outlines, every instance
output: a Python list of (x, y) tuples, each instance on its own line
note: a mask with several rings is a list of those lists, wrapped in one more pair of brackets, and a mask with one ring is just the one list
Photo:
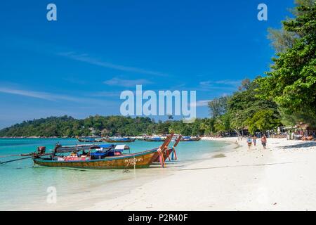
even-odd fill
[(100, 160), (58, 161), (49, 158), (34, 158), (34, 163), (46, 167), (73, 167), (84, 169), (133, 169), (149, 167), (157, 159), (157, 148), (140, 153), (107, 157)]

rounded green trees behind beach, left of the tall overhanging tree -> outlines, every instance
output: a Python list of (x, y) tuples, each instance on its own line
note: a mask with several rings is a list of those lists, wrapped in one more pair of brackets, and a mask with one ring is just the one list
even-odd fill
[[(258, 77), (260, 79), (260, 77)], [(232, 96), (216, 98), (209, 103), (213, 114), (207, 131), (211, 134), (224, 134), (241, 131), (249, 127), (251, 132), (267, 131), (281, 125), (277, 104), (267, 99), (258, 98), (258, 84), (244, 79)], [(215, 112), (215, 113), (214, 113)], [(258, 120), (258, 121), (256, 121)], [(204, 129), (204, 132), (206, 129)]]

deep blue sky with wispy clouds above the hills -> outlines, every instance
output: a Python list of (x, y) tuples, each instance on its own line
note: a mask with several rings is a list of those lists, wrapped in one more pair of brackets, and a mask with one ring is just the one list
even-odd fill
[[(57, 6), (57, 21), (46, 6)], [(268, 6), (268, 21), (257, 6)], [(207, 101), (269, 70), (268, 27), (284, 1), (4, 1), (0, 7), (0, 128), (51, 115), (119, 115), (119, 94), (196, 90)]]

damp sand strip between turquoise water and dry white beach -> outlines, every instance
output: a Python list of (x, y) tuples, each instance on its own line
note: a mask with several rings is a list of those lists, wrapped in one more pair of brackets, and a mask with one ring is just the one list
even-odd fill
[(115, 203), (118, 196), (128, 195), (133, 193), (134, 190), (141, 190), (143, 186), (152, 181), (173, 176), (179, 169), (202, 162), (204, 158), (211, 159), (214, 155), (225, 153), (227, 146), (226, 144), (225, 146), (219, 145), (218, 150), (203, 153), (202, 158), (180, 160), (178, 162), (168, 161), (166, 168), (161, 168), (157, 163), (149, 169), (136, 169), (136, 171), (130, 169), (127, 174), (122, 174), (121, 170), (105, 171), (105, 173), (117, 174), (120, 178), (100, 183), (96, 186), (90, 186), (88, 189), (84, 187), (78, 188), (73, 193), (58, 194), (58, 204), (47, 204), (45, 198), (41, 198), (15, 207), (15, 210), (82, 210), (94, 207), (96, 203), (102, 200), (112, 200)]

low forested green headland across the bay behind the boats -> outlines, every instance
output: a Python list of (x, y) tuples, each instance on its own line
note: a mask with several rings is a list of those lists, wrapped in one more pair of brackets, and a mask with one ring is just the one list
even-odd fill
[(148, 117), (122, 117), (100, 115), (84, 120), (72, 117), (48, 117), (15, 124), (0, 130), (0, 136), (138, 136), (141, 134), (176, 134), (186, 136), (211, 134), (212, 119), (197, 119), (191, 124), (182, 121), (159, 121), (155, 123)]

